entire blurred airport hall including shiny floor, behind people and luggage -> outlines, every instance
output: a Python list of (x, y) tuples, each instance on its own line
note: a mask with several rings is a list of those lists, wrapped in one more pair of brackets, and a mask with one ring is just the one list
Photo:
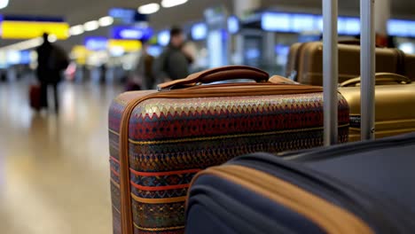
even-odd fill
[[(358, 2), (339, 1), (341, 40), (359, 37)], [(145, 55), (161, 56), (171, 27), (183, 33), (189, 73), (247, 65), (282, 75), (290, 46), (319, 41), (323, 30), (321, 0), (0, 0), (0, 8), (2, 234), (112, 232), (108, 106), (124, 90), (147, 89), (129, 82)], [(377, 1), (377, 43), (414, 54), (414, 10), (413, 0)], [(67, 55), (59, 114), (29, 105), (45, 39)]]

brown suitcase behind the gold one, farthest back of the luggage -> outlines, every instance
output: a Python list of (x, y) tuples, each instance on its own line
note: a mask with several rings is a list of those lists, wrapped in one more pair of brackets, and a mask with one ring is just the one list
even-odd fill
[[(357, 43), (359, 43), (357, 41)], [(340, 42), (339, 82), (360, 75), (360, 46)], [(415, 55), (390, 48), (376, 48), (376, 72), (401, 74), (415, 81)], [(295, 82), (323, 85), (323, 43), (294, 43), (288, 55), (286, 77)]]

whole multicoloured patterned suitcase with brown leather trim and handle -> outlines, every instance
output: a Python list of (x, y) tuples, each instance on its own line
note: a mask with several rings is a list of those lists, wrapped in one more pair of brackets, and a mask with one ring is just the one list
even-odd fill
[[(195, 85), (232, 79), (256, 82)], [(114, 233), (183, 233), (193, 175), (248, 152), (323, 144), (321, 87), (267, 82), (247, 66), (225, 66), (121, 94), (109, 113)], [(339, 141), (348, 104), (339, 95)]]

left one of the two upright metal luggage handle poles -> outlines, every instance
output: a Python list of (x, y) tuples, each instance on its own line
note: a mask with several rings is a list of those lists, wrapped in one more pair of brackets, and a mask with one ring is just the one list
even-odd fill
[(338, 141), (338, 96), (339, 68), (337, 49), (337, 0), (323, 0), (323, 86), (325, 145)]

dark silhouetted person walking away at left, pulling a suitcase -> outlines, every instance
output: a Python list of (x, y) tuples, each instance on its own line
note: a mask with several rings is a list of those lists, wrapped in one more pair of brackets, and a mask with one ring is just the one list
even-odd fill
[(43, 34), (43, 44), (37, 51), (37, 79), (40, 82), (40, 107), (48, 108), (48, 86), (53, 87), (55, 112), (59, 113), (58, 84), (62, 81), (62, 71), (69, 65), (67, 53), (48, 40), (49, 35)]

